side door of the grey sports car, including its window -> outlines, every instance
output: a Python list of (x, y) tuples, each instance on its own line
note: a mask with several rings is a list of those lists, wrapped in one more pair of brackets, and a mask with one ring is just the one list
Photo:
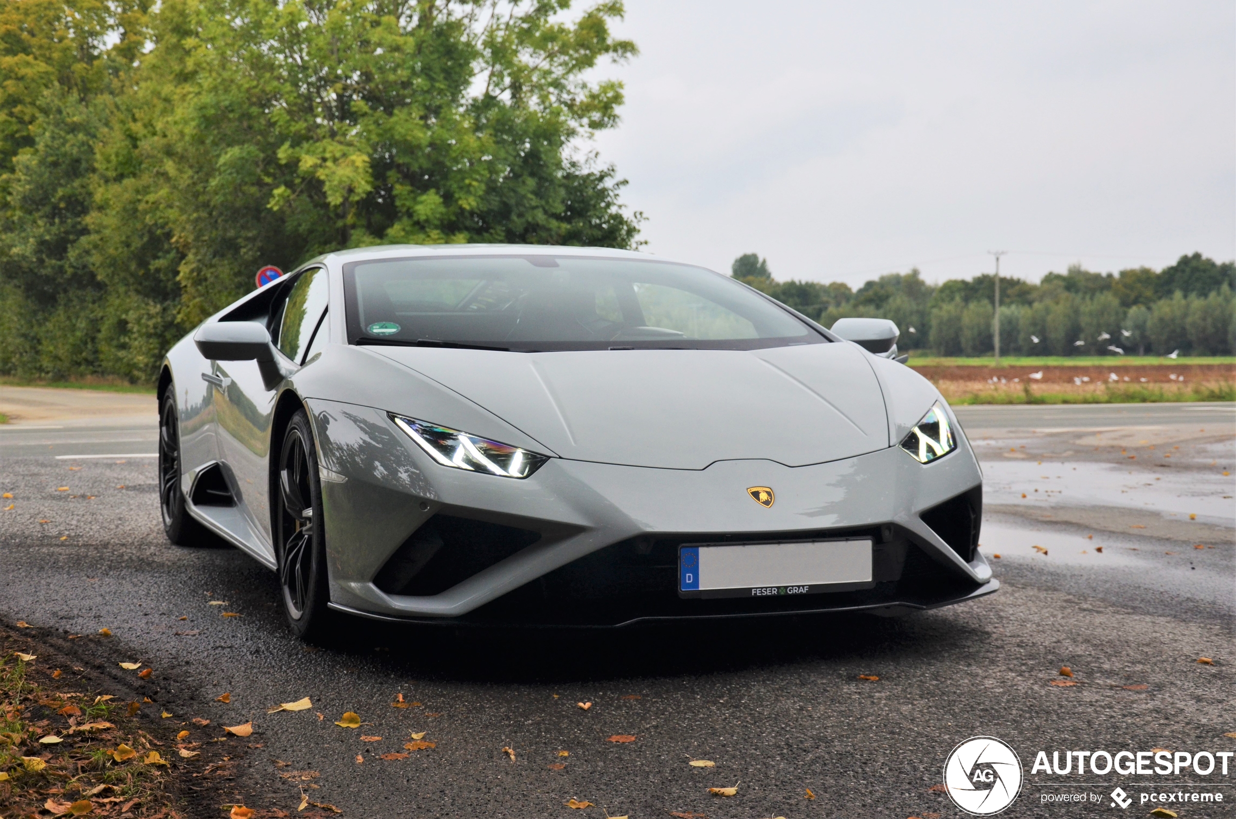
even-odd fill
[[(283, 285), (283, 293), (271, 305), (267, 326), (284, 369), (294, 369), (310, 352), (326, 304), (328, 275), (323, 268), (304, 271)], [(224, 383), (216, 394), (215, 416), (229, 481), (263, 551), (274, 560), (269, 463), (278, 457), (278, 442), (271, 441), (277, 387), (267, 387), (253, 361), (215, 362), (215, 374)]]

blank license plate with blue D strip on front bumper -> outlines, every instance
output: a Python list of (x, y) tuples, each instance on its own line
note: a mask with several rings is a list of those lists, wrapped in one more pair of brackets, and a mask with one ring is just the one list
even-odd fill
[(873, 586), (869, 537), (679, 547), (681, 597), (784, 597)]

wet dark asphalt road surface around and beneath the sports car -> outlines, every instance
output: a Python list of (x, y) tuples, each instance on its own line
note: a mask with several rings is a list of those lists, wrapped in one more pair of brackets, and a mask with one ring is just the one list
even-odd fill
[[(0, 490), (14, 495), (0, 505), (14, 505), (0, 511), (0, 620), (30, 623), (83, 668), (152, 666), (133, 684), (174, 714), (152, 713), (152, 731), (210, 719), (185, 726), (206, 751), (183, 763), (204, 788), (190, 791), (201, 817), (232, 802), (295, 813), (302, 792), (345, 817), (960, 817), (928, 789), (974, 735), (1025, 765), (1002, 815), (1095, 815), (1117, 784), (1135, 798), (1200, 784), (1225, 803), (1170, 807), (1227, 815), (1236, 765), (1227, 777), (1030, 768), (1039, 750), (1236, 750), (1224, 736), (1236, 731), (1231, 405), (958, 415), (983, 460), (983, 551), (1000, 555), (1004, 588), (906, 619), (616, 632), (357, 623), (307, 647), (281, 620), (273, 574), (229, 547), (164, 541), (154, 461), (140, 457), (154, 450), (150, 419), (0, 427)], [(1079, 684), (1052, 686), (1060, 666)], [(215, 702), (224, 692), (231, 702)], [(419, 704), (393, 708), (400, 693)], [(267, 713), (302, 697), (310, 710)], [(336, 726), (346, 710), (365, 725)], [(209, 741), (247, 720), (248, 740)], [(381, 758), (421, 731), (435, 747)], [(735, 783), (733, 798), (708, 793)], [(1104, 802), (1043, 803), (1082, 792)]]

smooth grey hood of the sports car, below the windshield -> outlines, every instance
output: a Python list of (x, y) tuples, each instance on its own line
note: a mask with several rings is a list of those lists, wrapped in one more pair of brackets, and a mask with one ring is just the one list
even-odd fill
[[(578, 461), (703, 469), (837, 461), (889, 446), (879, 382), (854, 345), (517, 353), (370, 347)], [(449, 418), (425, 421), (452, 426)]]

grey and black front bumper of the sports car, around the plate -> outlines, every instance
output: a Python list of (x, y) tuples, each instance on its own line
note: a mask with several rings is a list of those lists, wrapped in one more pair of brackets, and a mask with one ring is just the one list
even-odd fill
[[(383, 619), (619, 625), (922, 609), (999, 588), (973, 546), (950, 546), (920, 516), (980, 487), (964, 436), (955, 452), (927, 466), (897, 447), (794, 468), (761, 460), (690, 471), (554, 458), (514, 481), (434, 463), (381, 410), (307, 403), (323, 466), (330, 597), (341, 610)], [(748, 487), (772, 487), (774, 505), (751, 500)], [(436, 529), (457, 530), (459, 521), (528, 537), (517, 536), (509, 553), (487, 552), (489, 562), (476, 571), (439, 571), (436, 586), (392, 573), (399, 561), (405, 574), (419, 571), (417, 555), (441, 552), (441, 563), (451, 548)], [(415, 541), (425, 531), (435, 545)], [(680, 544), (854, 535), (876, 544), (875, 588), (789, 599), (677, 597)]]

